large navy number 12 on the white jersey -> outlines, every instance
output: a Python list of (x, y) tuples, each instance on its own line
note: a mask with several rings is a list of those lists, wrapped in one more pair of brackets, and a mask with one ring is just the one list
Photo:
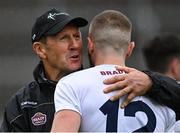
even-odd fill
[[(111, 101), (108, 100), (101, 107), (100, 111), (107, 115), (106, 121), (106, 132), (117, 132), (118, 123), (118, 111), (119, 111), (119, 100)], [(156, 116), (152, 109), (142, 101), (133, 101), (124, 109), (124, 116), (135, 117), (136, 112), (142, 111), (146, 114), (148, 122), (145, 126), (133, 132), (153, 132), (156, 127)], [(129, 125), (131, 122), (129, 123)]]

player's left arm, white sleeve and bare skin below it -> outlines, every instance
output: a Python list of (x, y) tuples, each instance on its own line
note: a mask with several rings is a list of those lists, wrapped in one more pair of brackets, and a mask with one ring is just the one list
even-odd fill
[(54, 93), (55, 116), (51, 132), (78, 132), (81, 123), (81, 109), (76, 88), (69, 80), (61, 79)]

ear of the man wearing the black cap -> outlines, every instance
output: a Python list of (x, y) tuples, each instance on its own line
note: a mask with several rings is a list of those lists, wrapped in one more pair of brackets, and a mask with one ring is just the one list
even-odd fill
[(46, 58), (46, 50), (45, 47), (43, 46), (43, 44), (41, 42), (34, 42), (33, 43), (33, 50), (36, 52), (36, 54), (44, 59)]

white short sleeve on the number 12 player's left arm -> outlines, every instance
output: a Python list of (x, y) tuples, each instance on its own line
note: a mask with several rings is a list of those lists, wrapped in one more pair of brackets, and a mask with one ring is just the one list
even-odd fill
[(72, 88), (68, 83), (61, 80), (56, 86), (54, 103), (56, 112), (69, 109), (81, 115), (80, 101), (75, 88)]

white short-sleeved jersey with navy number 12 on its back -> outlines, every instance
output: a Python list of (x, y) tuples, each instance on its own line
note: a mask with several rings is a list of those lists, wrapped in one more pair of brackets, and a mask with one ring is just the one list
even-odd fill
[(148, 98), (136, 97), (125, 109), (123, 97), (115, 102), (104, 94), (103, 81), (122, 74), (115, 65), (99, 65), (62, 78), (55, 91), (56, 112), (69, 109), (81, 117), (81, 132), (170, 132), (174, 131), (175, 113)]

